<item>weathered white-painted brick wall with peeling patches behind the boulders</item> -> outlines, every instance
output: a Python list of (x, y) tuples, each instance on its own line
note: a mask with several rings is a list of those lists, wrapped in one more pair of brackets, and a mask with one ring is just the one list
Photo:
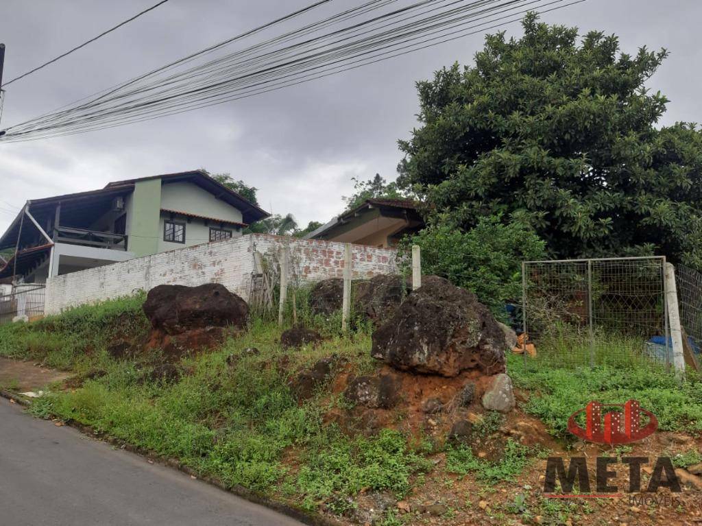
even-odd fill
[[(160, 284), (192, 287), (221, 283), (248, 299), (254, 249), (272, 256), (286, 244), (303, 281), (343, 275), (343, 243), (253, 234), (53, 277), (46, 284), (44, 311), (56, 314), (83, 303), (148, 291)], [(352, 245), (353, 277), (395, 273), (395, 256), (393, 249)]]

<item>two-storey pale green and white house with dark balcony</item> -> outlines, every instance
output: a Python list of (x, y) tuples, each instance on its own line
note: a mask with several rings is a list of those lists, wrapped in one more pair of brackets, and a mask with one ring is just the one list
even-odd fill
[(0, 280), (58, 276), (241, 235), (269, 214), (201, 170), (27, 201), (0, 237)]

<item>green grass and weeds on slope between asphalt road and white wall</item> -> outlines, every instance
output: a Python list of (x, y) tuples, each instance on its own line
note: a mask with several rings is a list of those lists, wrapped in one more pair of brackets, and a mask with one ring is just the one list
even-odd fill
[[(350, 436), (333, 423), (324, 424), (324, 412), (340, 404), (328, 390), (298, 404), (291, 371), (332, 354), (346, 357), (357, 372), (373, 367), (368, 353), (360, 353), (370, 345), (364, 332), (341, 338), (331, 327), (322, 327), (330, 339), (286, 354), (283, 368), (278, 366), (284, 356), (278, 343), (281, 330), (273, 322), (254, 320), (249, 331), (228, 339), (219, 350), (182, 360), (180, 380), (152, 381), (149, 374), (161, 360), (159, 353), (118, 361), (105, 352), (110, 338), (121, 338), (125, 330), (146, 334), (142, 302), (143, 297), (125, 298), (1, 327), (3, 355), (81, 372), (79, 388), (34, 400), (30, 411), (84, 423), (176, 457), (230, 487), (242, 485), (303, 503), (310, 511), (320, 506), (347, 511), (347, 497), (361, 490), (402, 497), (416, 473), (433, 467), (413, 441), (395, 430)], [(308, 311), (300, 308), (299, 314)], [(241, 353), (248, 347), (260, 353)], [(231, 356), (234, 365), (227, 363)]]

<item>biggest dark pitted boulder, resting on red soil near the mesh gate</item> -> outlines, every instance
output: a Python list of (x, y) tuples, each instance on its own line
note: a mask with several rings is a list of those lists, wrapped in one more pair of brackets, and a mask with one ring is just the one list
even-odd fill
[(505, 371), (505, 335), (475, 294), (431, 276), (373, 332), (371, 355), (414, 373), (492, 375)]

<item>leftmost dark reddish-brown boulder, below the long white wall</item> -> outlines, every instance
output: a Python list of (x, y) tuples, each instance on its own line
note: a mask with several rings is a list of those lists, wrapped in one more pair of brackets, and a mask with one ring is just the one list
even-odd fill
[(149, 291), (144, 313), (154, 329), (181, 334), (204, 327), (246, 327), (249, 305), (222, 284), (159, 285)]

